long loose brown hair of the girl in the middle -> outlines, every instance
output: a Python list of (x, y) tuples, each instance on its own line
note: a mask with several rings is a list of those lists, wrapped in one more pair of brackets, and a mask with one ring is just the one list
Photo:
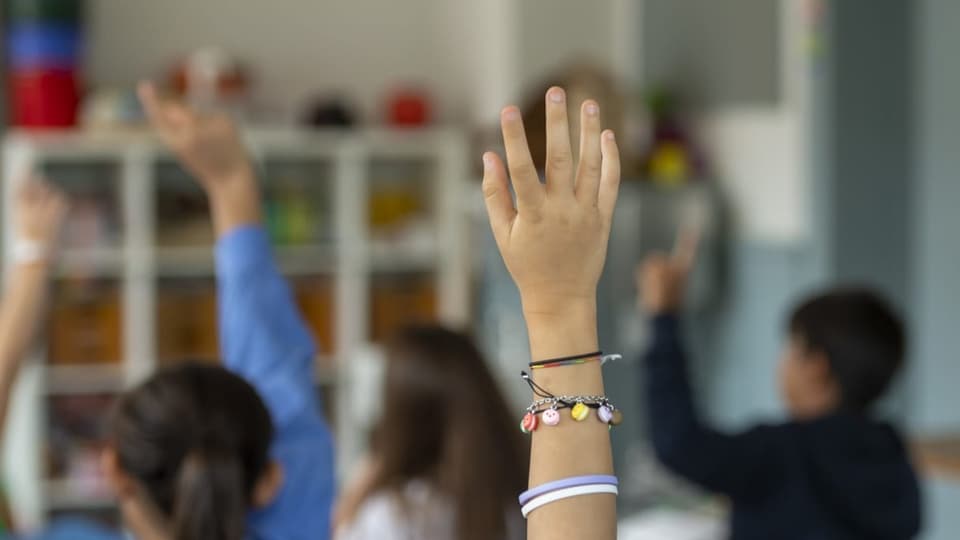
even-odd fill
[(525, 442), (473, 342), (412, 327), (388, 346), (371, 491), (429, 481), (457, 512), (459, 540), (502, 538), (526, 486)]

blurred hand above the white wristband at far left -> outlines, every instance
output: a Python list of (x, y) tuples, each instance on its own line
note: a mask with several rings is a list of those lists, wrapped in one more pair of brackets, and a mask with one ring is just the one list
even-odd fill
[(30, 179), (17, 193), (17, 234), (19, 240), (50, 250), (57, 242), (67, 215), (67, 197), (39, 179)]

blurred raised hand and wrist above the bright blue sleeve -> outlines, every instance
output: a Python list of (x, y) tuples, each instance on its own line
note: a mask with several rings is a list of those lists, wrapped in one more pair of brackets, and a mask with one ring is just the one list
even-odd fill
[(162, 101), (150, 83), (140, 83), (138, 93), (157, 134), (207, 191), (217, 233), (260, 222), (250, 154), (230, 117)]

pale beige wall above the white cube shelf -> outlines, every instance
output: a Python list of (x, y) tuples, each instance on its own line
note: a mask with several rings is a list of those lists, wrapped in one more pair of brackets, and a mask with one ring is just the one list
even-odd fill
[[(88, 74), (100, 84), (162, 77), (173, 59), (225, 47), (256, 68), (257, 96), (292, 118), (339, 91), (378, 118), (396, 84), (429, 88), (442, 121), (495, 121), (566, 59), (613, 57), (630, 0), (90, 0)], [(135, 45), (133, 45), (135, 44)]]

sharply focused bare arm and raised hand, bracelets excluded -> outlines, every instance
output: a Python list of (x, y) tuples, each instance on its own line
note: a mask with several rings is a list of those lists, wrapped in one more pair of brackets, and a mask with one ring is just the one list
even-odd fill
[[(570, 148), (566, 96), (547, 91), (546, 183), (530, 158), (520, 111), (501, 113), (510, 175), (496, 154), (483, 156), (483, 193), (503, 260), (520, 289), (533, 359), (596, 351), (597, 282), (603, 271), (620, 158), (613, 133), (600, 131), (596, 102), (581, 106), (580, 159)], [(516, 205), (510, 193), (512, 182)], [(555, 394), (603, 395), (596, 362), (541, 370), (537, 383)], [(530, 485), (613, 470), (610, 435), (600, 422), (557, 426), (533, 435)], [(613, 497), (590, 496), (537, 510), (527, 538), (607, 540), (616, 537)]]

